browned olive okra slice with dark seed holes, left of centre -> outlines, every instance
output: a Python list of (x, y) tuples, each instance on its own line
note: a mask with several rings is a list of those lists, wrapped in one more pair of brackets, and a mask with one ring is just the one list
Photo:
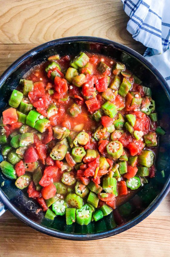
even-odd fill
[(61, 161), (64, 159), (67, 153), (67, 146), (57, 143), (50, 152), (50, 156), (55, 161)]

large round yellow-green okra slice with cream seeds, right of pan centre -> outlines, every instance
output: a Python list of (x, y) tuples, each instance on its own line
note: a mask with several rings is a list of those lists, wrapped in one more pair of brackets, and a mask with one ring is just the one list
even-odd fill
[(123, 154), (123, 145), (117, 140), (111, 141), (106, 146), (106, 150), (107, 153), (113, 157), (113, 159), (118, 159)]

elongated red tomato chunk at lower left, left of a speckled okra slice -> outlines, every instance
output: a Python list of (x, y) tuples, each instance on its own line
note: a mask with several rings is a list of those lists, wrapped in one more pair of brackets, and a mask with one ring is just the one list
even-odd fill
[(58, 168), (55, 166), (48, 166), (44, 170), (44, 174), (39, 182), (41, 186), (47, 186), (53, 183), (53, 178), (57, 177)]

